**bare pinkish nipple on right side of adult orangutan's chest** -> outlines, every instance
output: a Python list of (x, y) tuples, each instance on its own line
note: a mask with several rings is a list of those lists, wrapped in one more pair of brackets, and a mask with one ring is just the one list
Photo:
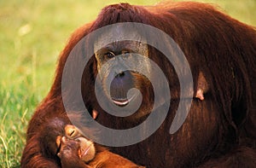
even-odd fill
[(204, 94), (207, 93), (208, 90), (209, 85), (207, 83), (207, 79), (202, 72), (199, 72), (195, 97), (203, 101), (205, 99)]

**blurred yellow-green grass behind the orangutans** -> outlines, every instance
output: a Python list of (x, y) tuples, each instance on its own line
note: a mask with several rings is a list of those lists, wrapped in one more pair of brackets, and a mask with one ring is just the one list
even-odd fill
[[(71, 32), (109, 3), (158, 0), (0, 0), (0, 167), (19, 167), (26, 126), (47, 94)], [(256, 26), (255, 0), (205, 0)]]

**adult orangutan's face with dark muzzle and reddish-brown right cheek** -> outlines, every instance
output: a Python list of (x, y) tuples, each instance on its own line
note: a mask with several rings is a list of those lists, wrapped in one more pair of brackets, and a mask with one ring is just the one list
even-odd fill
[[(143, 96), (142, 104), (137, 111), (131, 116), (126, 117), (125, 120), (121, 121), (122, 123), (127, 121), (125, 124), (127, 128), (137, 125), (135, 122), (142, 122), (146, 119), (153, 104), (151, 100), (153, 99), (153, 96), (149, 95), (152, 93), (152, 87), (149, 87), (151, 86), (150, 81), (146, 77), (147, 75), (150, 75), (150, 64), (146, 59), (135, 58), (135, 55), (148, 58), (148, 46), (145, 43), (137, 41), (120, 41), (109, 43), (107, 46), (97, 50), (95, 53), (96, 67), (101, 80), (100, 85), (104, 95), (107, 96), (107, 100), (104, 101), (104, 103), (113, 102), (115, 106), (125, 107), (130, 102), (137, 102), (139, 100), (138, 93), (131, 93), (130, 95), (127, 95), (131, 89), (139, 90)], [(109, 66), (129, 69), (124, 60), (126, 62), (128, 61), (131, 67), (143, 69), (143, 71), (146, 72), (146, 75), (132, 71), (132, 69), (126, 71), (115, 71), (108, 68)], [(116, 61), (116, 63), (113, 64), (113, 62), (108, 61)], [(109, 80), (111, 81), (110, 90), (107, 91)], [(131, 104), (130, 107), (133, 107), (133, 105)], [(129, 109), (128, 111), (133, 110)], [(123, 110), (123, 112), (125, 112), (125, 110)]]

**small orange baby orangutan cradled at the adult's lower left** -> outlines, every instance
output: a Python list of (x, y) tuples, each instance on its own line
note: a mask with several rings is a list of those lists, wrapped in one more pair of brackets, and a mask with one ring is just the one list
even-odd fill
[(57, 136), (58, 157), (62, 168), (139, 168), (130, 160), (85, 138), (74, 125), (66, 125), (64, 136)]

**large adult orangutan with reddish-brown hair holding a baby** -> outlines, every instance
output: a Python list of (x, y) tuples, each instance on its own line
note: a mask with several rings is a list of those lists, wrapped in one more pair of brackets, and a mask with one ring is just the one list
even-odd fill
[[(86, 56), (86, 51), (90, 49), (86, 45), (88, 39), (83, 42), (83, 48), (74, 49), (82, 38), (104, 26), (123, 22), (154, 26), (178, 44), (189, 62), (194, 94), (187, 119), (179, 130), (170, 134), (178, 104), (185, 98), (180, 96), (181, 84), (175, 65), (168, 61), (164, 53), (148, 44), (151, 43), (149, 41), (126, 40), (99, 47), (99, 43), (109, 36), (103, 33), (98, 39), (88, 38), (95, 49), (84, 68), (79, 86), (84, 104), (98, 123), (113, 129), (130, 129), (146, 121), (153, 108), (154, 88), (145, 75), (132, 70), (108, 72), (108, 69), (98, 74), (106, 62), (118, 59), (118, 55), (127, 55), (128, 61), (137, 62), (137, 67), (143, 67), (148, 70), (147, 74), (158, 78), (147, 61), (137, 61), (132, 54), (137, 53), (154, 61), (164, 72), (171, 93), (171, 100), (160, 100), (158, 104), (158, 107), (170, 106), (165, 121), (153, 135), (142, 142), (110, 147), (110, 150), (146, 167), (255, 167), (256, 32), (252, 26), (234, 20), (205, 3), (160, 3), (149, 7), (114, 4), (102, 9), (96, 20), (74, 32), (61, 52), (55, 82), (28, 126), (21, 167), (60, 167), (57, 156), (49, 157), (39, 143), (44, 138), (41, 136), (42, 125), (53, 118), (67, 119), (63, 100), (68, 97), (72, 102), (75, 96), (74, 90), (63, 92), (62, 88), (61, 91), (62, 75), (66, 74), (65, 64), (72, 53)], [(113, 32), (110, 38), (124, 35), (122, 27), (113, 29)], [(131, 30), (131, 37), (144, 37), (142, 33)], [(156, 41), (162, 40), (162, 45), (169, 46), (166, 39), (157, 38)], [(72, 70), (75, 72), (77, 69), (73, 67)], [(186, 75), (184, 73), (183, 77), (186, 78)], [(71, 81), (73, 76), (70, 76)], [(128, 90), (140, 90), (143, 100), (136, 113), (128, 117), (106, 113), (96, 99), (96, 76), (101, 81), (102, 96), (107, 95), (109, 101), (119, 107), (128, 106), (131, 98), (137, 99), (137, 95), (127, 97)], [(104, 93), (108, 90), (109, 78), (112, 79), (110, 94), (108, 91)], [(157, 86), (161, 88), (161, 82)], [(73, 106), (77, 107), (77, 104)], [(146, 132), (148, 127), (144, 129)], [(55, 126), (49, 131), (54, 130)]]

